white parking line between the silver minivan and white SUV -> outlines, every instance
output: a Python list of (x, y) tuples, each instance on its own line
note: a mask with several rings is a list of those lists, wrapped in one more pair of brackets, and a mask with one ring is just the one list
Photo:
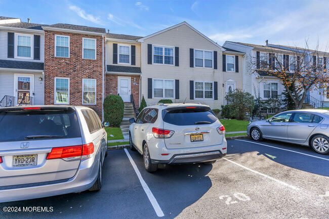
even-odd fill
[(129, 158), (129, 160), (130, 160), (130, 162), (131, 162), (131, 164), (132, 164), (132, 166), (133, 166), (133, 168), (134, 168), (134, 170), (135, 170), (135, 172), (136, 172), (136, 174), (137, 174), (137, 177), (138, 177), (139, 181), (140, 181), (141, 184), (142, 184), (142, 187), (143, 187), (143, 189), (144, 189), (144, 191), (145, 191), (145, 193), (146, 193), (148, 199), (150, 200), (150, 202), (151, 202), (151, 204), (152, 204), (152, 206), (153, 206), (153, 208), (154, 208), (154, 210), (155, 210), (156, 215), (157, 215), (157, 216), (165, 216), (165, 214), (163, 214), (163, 212), (162, 212), (162, 210), (161, 210), (159, 204), (157, 203), (155, 197), (153, 196), (153, 194), (152, 194), (150, 188), (148, 188), (147, 184), (145, 183), (144, 179), (142, 178), (142, 175), (141, 175), (140, 171), (138, 170), (135, 161), (134, 161), (133, 158), (130, 156), (130, 154), (129, 154), (129, 152), (127, 151), (127, 149), (125, 148), (124, 150), (125, 150), (125, 152), (126, 152), (128, 158)]

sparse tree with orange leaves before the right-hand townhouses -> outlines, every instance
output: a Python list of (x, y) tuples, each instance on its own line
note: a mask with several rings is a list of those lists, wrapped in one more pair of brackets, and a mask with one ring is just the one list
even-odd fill
[[(281, 80), (285, 90), (295, 103), (296, 109), (301, 109), (309, 91), (326, 90), (329, 82), (326, 73), (328, 53), (310, 50), (306, 47), (279, 46), (267, 52), (257, 52), (252, 57), (252, 74), (273, 76)], [(326, 57), (328, 56), (328, 57)]]

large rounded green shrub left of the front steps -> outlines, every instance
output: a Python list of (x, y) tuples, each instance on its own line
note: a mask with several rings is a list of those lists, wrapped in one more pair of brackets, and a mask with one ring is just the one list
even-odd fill
[(125, 104), (118, 95), (109, 95), (104, 99), (104, 119), (111, 127), (118, 127), (124, 118)]

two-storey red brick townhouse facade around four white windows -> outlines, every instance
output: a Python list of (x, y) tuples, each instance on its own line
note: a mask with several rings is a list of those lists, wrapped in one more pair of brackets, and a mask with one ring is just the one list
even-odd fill
[[(55, 57), (55, 34), (70, 36), (69, 58)], [(96, 38), (96, 60), (83, 59), (83, 37)], [(54, 78), (68, 77), (69, 105), (90, 107), (102, 118), (102, 48), (102, 36), (45, 31), (45, 104), (54, 104)], [(83, 104), (83, 78), (96, 79), (96, 105)]]

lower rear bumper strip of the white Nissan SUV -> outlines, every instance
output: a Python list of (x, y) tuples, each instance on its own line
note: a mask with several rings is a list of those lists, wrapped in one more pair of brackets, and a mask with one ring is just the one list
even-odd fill
[(151, 159), (152, 163), (166, 163), (166, 164), (184, 164), (184, 163), (199, 163), (207, 162), (212, 160), (218, 160), (224, 157), (220, 150), (217, 151), (205, 151), (199, 153), (188, 153), (188, 154), (175, 154), (169, 160), (154, 160)]

